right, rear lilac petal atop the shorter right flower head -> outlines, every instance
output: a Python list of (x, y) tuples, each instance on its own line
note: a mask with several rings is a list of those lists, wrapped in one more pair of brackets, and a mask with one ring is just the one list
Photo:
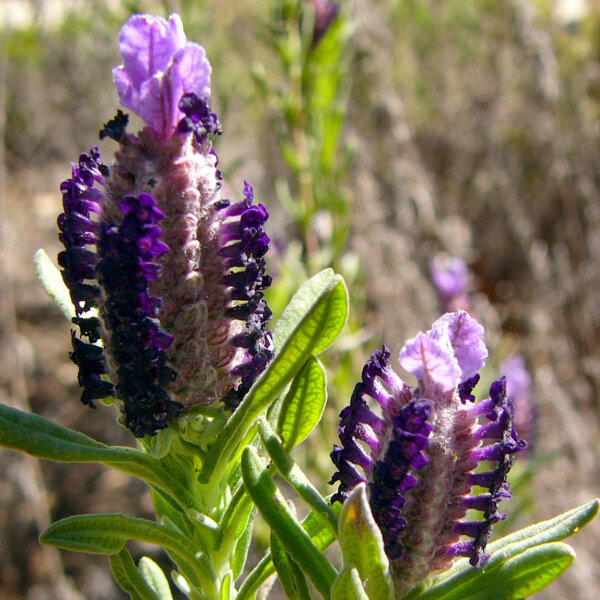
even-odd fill
[(488, 352), (483, 343), (483, 327), (464, 310), (446, 313), (427, 333), (433, 338), (448, 336), (462, 371), (460, 381), (473, 377), (485, 364)]

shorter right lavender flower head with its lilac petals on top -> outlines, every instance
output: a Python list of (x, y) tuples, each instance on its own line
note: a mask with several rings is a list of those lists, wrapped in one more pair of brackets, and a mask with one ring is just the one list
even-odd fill
[[(394, 372), (384, 346), (341, 413), (333, 499), (343, 502), (357, 483), (368, 483), (397, 595), (456, 556), (483, 563), (492, 525), (505, 517), (498, 504), (510, 498), (506, 476), (526, 444), (514, 430), (504, 379), (492, 384), (489, 399), (473, 403), (486, 357), (479, 323), (464, 311), (447, 313), (400, 352), (416, 388)], [(378, 414), (369, 402), (379, 405)], [(479, 471), (481, 461), (491, 468)], [(481, 511), (481, 520), (466, 521), (470, 509)]]

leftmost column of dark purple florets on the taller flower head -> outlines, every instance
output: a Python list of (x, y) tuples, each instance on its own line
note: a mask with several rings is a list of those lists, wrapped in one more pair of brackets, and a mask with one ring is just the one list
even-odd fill
[(73, 350), (69, 356), (79, 367), (78, 379), (83, 387), (81, 401), (91, 408), (95, 408), (94, 400), (114, 394), (113, 384), (102, 379), (107, 372), (103, 349), (95, 345), (101, 337), (100, 320), (82, 316), (97, 307), (100, 298), (95, 271), (96, 245), (107, 175), (108, 168), (102, 164), (98, 148), (92, 148), (89, 154), (81, 154), (78, 163), (72, 167), (71, 179), (60, 186), (64, 212), (57, 221), (58, 239), (65, 247), (58, 255), (58, 264), (75, 307), (73, 323), (79, 327), (81, 336), (90, 342), (77, 338), (72, 331)]

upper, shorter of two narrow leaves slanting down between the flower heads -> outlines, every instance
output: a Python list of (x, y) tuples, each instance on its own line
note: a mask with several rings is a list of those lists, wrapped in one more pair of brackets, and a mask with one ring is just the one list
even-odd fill
[(330, 506), (325, 502), (319, 491), (312, 485), (300, 467), (283, 449), (281, 441), (271, 429), (266, 419), (260, 418), (258, 420), (258, 432), (265, 450), (283, 478), (298, 492), (300, 497), (313, 509), (315, 514), (320, 515), (324, 523), (329, 525), (333, 532), (336, 532), (338, 528), (336, 514), (331, 510)]

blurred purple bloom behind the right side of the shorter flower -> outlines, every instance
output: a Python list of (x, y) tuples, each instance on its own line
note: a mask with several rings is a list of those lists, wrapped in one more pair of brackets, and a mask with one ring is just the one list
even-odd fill
[(527, 452), (532, 452), (538, 420), (538, 407), (531, 393), (531, 376), (525, 359), (511, 354), (500, 364), (500, 373), (506, 377), (506, 397), (515, 407), (515, 427), (527, 441)]

